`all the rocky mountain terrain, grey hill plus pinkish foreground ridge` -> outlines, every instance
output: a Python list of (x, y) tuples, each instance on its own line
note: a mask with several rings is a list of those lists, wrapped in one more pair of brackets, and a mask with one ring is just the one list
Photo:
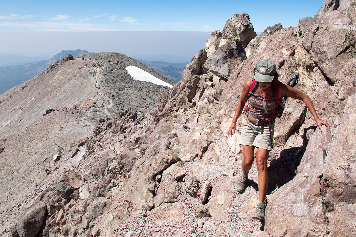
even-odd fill
[[(2, 94), (1, 235), (353, 236), (355, 6), (325, 0), (314, 18), (295, 27), (276, 24), (259, 36), (248, 14), (234, 14), (176, 84), (106, 52), (61, 60)], [(233, 136), (226, 131), (243, 85), (266, 58), (276, 62), (284, 84), (299, 73), (295, 88), (312, 99), (330, 129), (321, 131), (305, 104), (288, 98), (276, 119), (260, 222), (252, 220), (255, 165), (245, 191), (234, 188), (242, 119)], [(125, 72), (130, 66), (173, 87), (153, 90), (150, 82), (132, 80)], [(127, 111), (134, 91), (141, 93), (137, 103), (160, 93), (137, 119)]]

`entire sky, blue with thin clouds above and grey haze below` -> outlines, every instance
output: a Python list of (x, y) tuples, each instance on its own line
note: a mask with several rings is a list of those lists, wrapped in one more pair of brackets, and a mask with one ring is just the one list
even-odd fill
[(14, 0), (0, 5), (2, 54), (55, 55), (63, 49), (83, 49), (128, 56), (174, 55), (189, 61), (204, 48), (211, 32), (223, 31), (226, 20), (235, 13), (246, 12), (255, 32), (263, 32), (277, 23), (287, 28), (297, 26), (300, 18), (314, 17), (323, 0), (278, 0), (273, 4)]

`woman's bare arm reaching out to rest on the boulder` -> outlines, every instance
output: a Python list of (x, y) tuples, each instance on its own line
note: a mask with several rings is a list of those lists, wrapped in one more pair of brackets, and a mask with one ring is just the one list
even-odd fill
[(282, 95), (303, 101), (305, 103), (305, 105), (307, 106), (307, 108), (309, 109), (310, 113), (312, 113), (313, 118), (315, 119), (315, 122), (321, 131), (323, 131), (323, 129), (321, 128), (321, 126), (323, 124), (326, 125), (328, 128), (330, 128), (328, 122), (326, 122), (325, 120), (322, 120), (318, 117), (318, 114), (316, 114), (312, 100), (309, 98), (309, 96), (305, 95), (305, 93), (303, 93), (297, 89), (294, 89), (293, 87), (290, 87), (288, 85), (282, 84), (279, 87), (278, 96), (280, 97)]

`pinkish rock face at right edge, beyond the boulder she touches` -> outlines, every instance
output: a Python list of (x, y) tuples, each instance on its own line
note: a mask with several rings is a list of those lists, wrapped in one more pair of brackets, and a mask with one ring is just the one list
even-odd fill
[(333, 145), (325, 158), (321, 194), (331, 236), (351, 236), (356, 226), (356, 95), (347, 100)]

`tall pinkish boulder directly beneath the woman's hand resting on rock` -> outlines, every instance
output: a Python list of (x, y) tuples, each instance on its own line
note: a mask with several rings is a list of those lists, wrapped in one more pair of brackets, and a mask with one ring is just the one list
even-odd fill
[(265, 228), (269, 235), (327, 235), (320, 178), (330, 144), (330, 129), (324, 126), (321, 133), (317, 128), (309, 140), (294, 179), (269, 195), (265, 217)]

